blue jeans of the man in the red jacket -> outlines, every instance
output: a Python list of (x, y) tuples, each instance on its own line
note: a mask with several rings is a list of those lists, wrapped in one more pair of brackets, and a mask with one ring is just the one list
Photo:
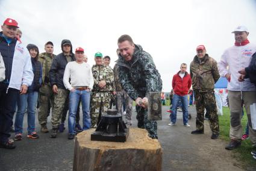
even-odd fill
[(181, 101), (182, 109), (183, 109), (183, 124), (185, 125), (189, 120), (189, 99), (187, 99), (187, 95), (179, 96), (173, 95), (172, 99), (172, 111), (173, 113), (170, 115), (170, 121), (176, 123), (176, 114), (178, 102)]

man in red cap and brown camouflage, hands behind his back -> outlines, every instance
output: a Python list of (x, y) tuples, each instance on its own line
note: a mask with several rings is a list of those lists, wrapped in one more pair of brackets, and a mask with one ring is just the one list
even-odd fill
[(204, 134), (204, 109), (209, 113), (212, 139), (219, 137), (219, 117), (217, 116), (214, 84), (220, 78), (217, 62), (206, 54), (205, 46), (196, 48), (197, 55), (190, 63), (193, 92), (196, 102), (196, 130), (191, 134)]

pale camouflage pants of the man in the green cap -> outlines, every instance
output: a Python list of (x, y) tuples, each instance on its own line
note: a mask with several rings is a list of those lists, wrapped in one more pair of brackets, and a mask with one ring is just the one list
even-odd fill
[(101, 120), (101, 114), (106, 113), (110, 107), (110, 92), (92, 92), (90, 102), (90, 117), (92, 122), (92, 128), (96, 128), (99, 120)]

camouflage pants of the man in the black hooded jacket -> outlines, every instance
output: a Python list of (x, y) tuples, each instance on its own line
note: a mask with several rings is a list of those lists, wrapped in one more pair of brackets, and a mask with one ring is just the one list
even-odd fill
[(58, 89), (58, 93), (54, 93), (54, 107), (52, 108), (52, 127), (60, 125), (60, 119), (65, 107), (65, 102), (69, 95), (69, 90)]

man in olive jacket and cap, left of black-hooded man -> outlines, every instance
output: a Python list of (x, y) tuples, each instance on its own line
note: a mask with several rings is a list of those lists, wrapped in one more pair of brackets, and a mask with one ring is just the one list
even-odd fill
[(39, 89), (39, 111), (38, 120), (41, 125), (41, 132), (49, 132), (46, 127), (47, 117), (49, 115), (49, 108), (52, 107), (54, 102), (54, 93), (52, 92), (49, 70), (51, 69), (52, 60), (56, 55), (54, 52), (54, 44), (52, 42), (45, 43), (45, 52), (39, 54), (39, 61), (42, 64), (43, 76), (42, 87)]

